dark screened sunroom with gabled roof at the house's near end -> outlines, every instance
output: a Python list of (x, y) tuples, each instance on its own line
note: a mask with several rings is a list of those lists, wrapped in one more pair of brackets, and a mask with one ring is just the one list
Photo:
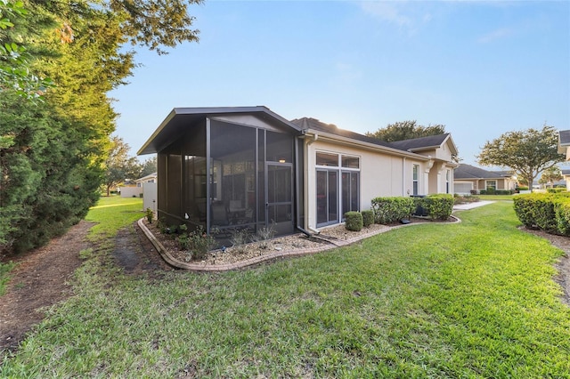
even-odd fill
[(139, 150), (158, 154), (159, 219), (222, 239), (292, 233), (303, 213), (299, 134), (265, 107), (174, 109)]

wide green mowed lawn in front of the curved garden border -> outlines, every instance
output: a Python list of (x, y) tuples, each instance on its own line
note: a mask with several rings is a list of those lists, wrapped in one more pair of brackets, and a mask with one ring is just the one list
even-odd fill
[(88, 259), (0, 376), (570, 377), (561, 251), (508, 202), (459, 215), (223, 274)]

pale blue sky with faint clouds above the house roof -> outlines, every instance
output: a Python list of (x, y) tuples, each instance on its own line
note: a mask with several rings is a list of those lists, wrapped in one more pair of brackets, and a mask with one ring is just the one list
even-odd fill
[(133, 155), (175, 107), (265, 105), (358, 133), (443, 124), (473, 165), (502, 133), (570, 129), (570, 2), (207, 0), (190, 12), (199, 43), (139, 51), (110, 93)]

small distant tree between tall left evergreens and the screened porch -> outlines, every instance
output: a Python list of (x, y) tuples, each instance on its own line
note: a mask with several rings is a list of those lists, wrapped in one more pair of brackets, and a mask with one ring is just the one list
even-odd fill
[(134, 180), (141, 175), (142, 165), (138, 163), (135, 157), (128, 156), (130, 149), (122, 138), (111, 138), (110, 155), (105, 162), (107, 169), (103, 183), (107, 190), (107, 196), (110, 196), (111, 187), (117, 187), (123, 181)]

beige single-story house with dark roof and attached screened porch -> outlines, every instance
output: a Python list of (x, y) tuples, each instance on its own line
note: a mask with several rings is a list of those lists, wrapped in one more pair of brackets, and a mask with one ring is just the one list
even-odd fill
[(138, 154), (158, 154), (168, 224), (276, 235), (319, 230), (379, 196), (453, 192), (449, 133), (387, 143), (265, 107), (175, 108)]

